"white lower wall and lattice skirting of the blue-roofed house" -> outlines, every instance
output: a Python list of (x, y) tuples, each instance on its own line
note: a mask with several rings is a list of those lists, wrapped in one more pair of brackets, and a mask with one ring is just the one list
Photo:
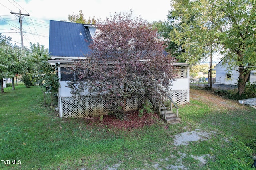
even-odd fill
[[(72, 98), (70, 88), (67, 87), (68, 81), (60, 81), (59, 90), (60, 117), (88, 117), (99, 113), (108, 112), (105, 100), (87, 98), (84, 102)], [(180, 88), (179, 88), (180, 87)], [(169, 96), (178, 105), (189, 102), (188, 79), (176, 79), (171, 86)], [(126, 101), (126, 110), (138, 109), (139, 104), (143, 102), (140, 96), (135, 96)]]

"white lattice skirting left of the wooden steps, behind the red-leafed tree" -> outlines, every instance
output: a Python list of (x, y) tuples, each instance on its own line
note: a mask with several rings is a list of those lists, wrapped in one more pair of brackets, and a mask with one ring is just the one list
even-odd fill
[[(72, 97), (62, 97), (62, 117), (92, 117), (110, 113), (109, 105), (106, 100), (96, 98), (86, 98), (84, 101), (78, 101)], [(126, 100), (126, 110), (138, 109), (143, 103), (140, 97), (132, 97)], [(114, 105), (114, 104), (113, 104)]]

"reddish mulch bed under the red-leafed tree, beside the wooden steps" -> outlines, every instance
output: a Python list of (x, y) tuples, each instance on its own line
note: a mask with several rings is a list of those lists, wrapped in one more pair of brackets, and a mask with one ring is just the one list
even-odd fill
[(104, 127), (117, 129), (136, 129), (144, 126), (150, 126), (156, 123), (160, 118), (156, 113), (143, 113), (142, 117), (138, 116), (138, 111), (127, 111), (122, 120), (117, 119), (114, 115), (104, 115), (103, 121), (100, 122), (99, 117), (86, 119), (89, 124), (97, 123)]

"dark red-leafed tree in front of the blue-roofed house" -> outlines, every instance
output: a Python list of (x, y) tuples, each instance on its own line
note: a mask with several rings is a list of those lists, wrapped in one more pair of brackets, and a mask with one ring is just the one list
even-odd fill
[(87, 96), (115, 102), (124, 114), (126, 100), (140, 94), (166, 93), (173, 80), (173, 57), (146, 20), (132, 12), (97, 23), (91, 53), (73, 64), (68, 83), (75, 98)]

